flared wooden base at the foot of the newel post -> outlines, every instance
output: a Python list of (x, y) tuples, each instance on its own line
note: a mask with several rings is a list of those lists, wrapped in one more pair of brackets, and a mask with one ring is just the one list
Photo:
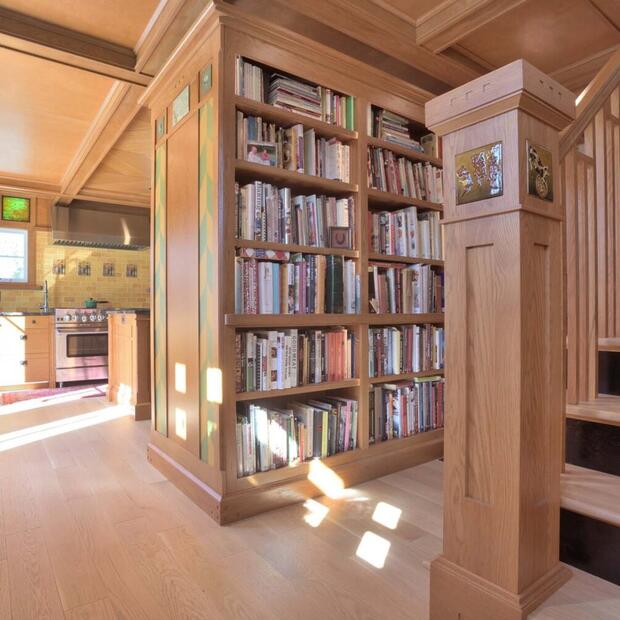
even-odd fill
[(558, 562), (515, 594), (440, 556), (431, 563), (430, 620), (524, 620), (571, 578)]

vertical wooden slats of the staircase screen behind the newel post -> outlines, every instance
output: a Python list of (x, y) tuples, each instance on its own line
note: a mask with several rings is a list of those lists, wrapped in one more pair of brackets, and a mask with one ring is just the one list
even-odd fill
[(598, 100), (587, 93), (582, 131), (563, 149), (568, 403), (596, 398), (598, 340), (620, 338), (620, 87), (610, 79)]

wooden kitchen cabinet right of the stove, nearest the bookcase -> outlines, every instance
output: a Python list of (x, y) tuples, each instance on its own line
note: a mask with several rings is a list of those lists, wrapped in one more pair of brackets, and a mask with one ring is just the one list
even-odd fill
[(108, 314), (108, 399), (151, 417), (150, 319), (146, 312)]

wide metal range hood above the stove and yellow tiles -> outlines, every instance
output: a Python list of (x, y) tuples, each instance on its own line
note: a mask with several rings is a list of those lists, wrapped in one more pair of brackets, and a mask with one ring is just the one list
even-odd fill
[(74, 200), (52, 211), (55, 245), (143, 250), (149, 238), (148, 209)]

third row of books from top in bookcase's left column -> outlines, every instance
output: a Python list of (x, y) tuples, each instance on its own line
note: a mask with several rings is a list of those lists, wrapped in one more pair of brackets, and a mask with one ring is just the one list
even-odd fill
[(288, 187), (255, 181), (235, 184), (238, 239), (351, 248), (353, 198), (293, 196)]

